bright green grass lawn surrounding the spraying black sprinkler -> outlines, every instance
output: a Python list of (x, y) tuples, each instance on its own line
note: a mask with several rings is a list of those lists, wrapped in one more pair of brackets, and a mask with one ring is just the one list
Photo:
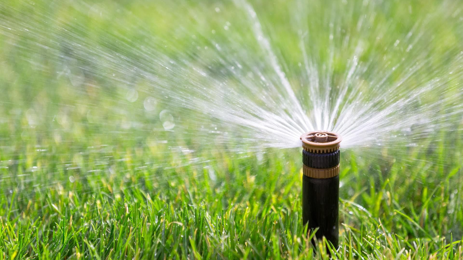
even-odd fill
[[(191, 80), (193, 88), (179, 95), (198, 94), (208, 81), (190, 75), (204, 67), (214, 82), (229, 80), (237, 91), (255, 94), (240, 87), (241, 74), (225, 69), (252, 53), (255, 60), (244, 68), (272, 73), (259, 63), (265, 53), (245, 12), (219, 1), (49, 2), (0, 3), (0, 260), (329, 258), (324, 242), (312, 245), (302, 225), (301, 149), (251, 142), (249, 131), (185, 109), (169, 92)], [(306, 12), (293, 15), (295, 6), (285, 2), (250, 3), (289, 82), (299, 86), (298, 34), (288, 24)], [(462, 5), (388, 1), (370, 10), (362, 7), (367, 2), (344, 8), (344, 1), (320, 1), (307, 12), (341, 6), (347, 14), (335, 15), (336, 22), (348, 32), (357, 28), (356, 17), (375, 12), (371, 25), (386, 40), (366, 47), (360, 60), (384, 57), (374, 61), (386, 64), (430, 53), (416, 79), (435, 74), (461, 88), (463, 74), (446, 69), (461, 68), (450, 59), (463, 50)], [(441, 9), (450, 15), (425, 19)], [(421, 20), (432, 25), (423, 31), (427, 44), (417, 43), (407, 56), (384, 49), (397, 39), (407, 42), (409, 28)], [(309, 28), (329, 35), (324, 23)], [(336, 39), (345, 36), (342, 30)], [(349, 35), (365, 45), (376, 37), (353, 29)], [(323, 41), (309, 50), (318, 62), (329, 59), (330, 50), (315, 48)], [(211, 42), (224, 51), (207, 52)], [(344, 75), (355, 47), (336, 50), (335, 77)], [(405, 68), (415, 61), (406, 60)], [(462, 109), (463, 92), (452, 89), (445, 94), (454, 103), (436, 113)], [(451, 114), (432, 134), (412, 136), (413, 145), (399, 140), (342, 150), (340, 248), (331, 248), (332, 256), (463, 259), (461, 115)], [(226, 131), (237, 134), (227, 139)]]

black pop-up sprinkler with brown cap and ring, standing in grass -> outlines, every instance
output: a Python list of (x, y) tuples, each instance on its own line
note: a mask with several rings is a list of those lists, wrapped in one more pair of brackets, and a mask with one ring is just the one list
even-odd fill
[[(318, 228), (317, 239), (339, 241), (339, 144), (338, 134), (312, 131), (302, 141), (302, 220), (308, 231)], [(314, 242), (314, 241), (313, 241)]]

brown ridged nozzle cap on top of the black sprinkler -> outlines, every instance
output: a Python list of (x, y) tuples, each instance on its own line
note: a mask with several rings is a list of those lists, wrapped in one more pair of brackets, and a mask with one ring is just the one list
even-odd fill
[(339, 149), (343, 138), (333, 132), (312, 131), (300, 136), (302, 148), (310, 153), (331, 153)]

